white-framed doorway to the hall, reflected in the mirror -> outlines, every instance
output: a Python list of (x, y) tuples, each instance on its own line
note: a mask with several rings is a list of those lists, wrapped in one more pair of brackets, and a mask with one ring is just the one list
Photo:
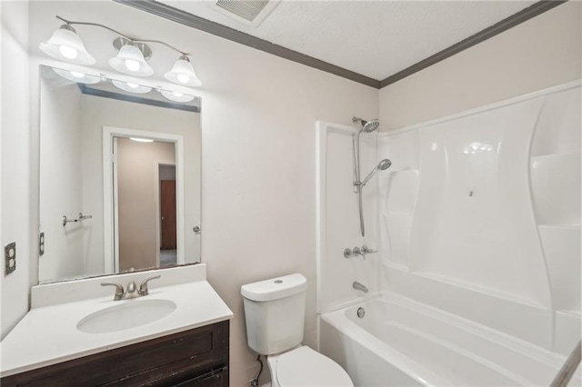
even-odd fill
[[(170, 234), (173, 235), (170, 239), (174, 241), (169, 246), (174, 248), (167, 250), (173, 250), (170, 254), (172, 263), (185, 263), (183, 137), (178, 134), (111, 126), (104, 126), (103, 130), (105, 273), (121, 273), (132, 269), (159, 267), (160, 252), (162, 251), (160, 249), (162, 226), (159, 164), (171, 165), (173, 168), (173, 179), (165, 179), (174, 181), (172, 185), (173, 206), (175, 208), (174, 212), (168, 215), (174, 219), (172, 222), (174, 223), (174, 231), (170, 231)], [(124, 169), (123, 160), (120, 159), (124, 158), (123, 153), (119, 152), (118, 149), (121, 143), (133, 144), (134, 148), (138, 143), (141, 143), (139, 147), (144, 149), (155, 144), (166, 144), (173, 149), (173, 152), (171, 155), (162, 154), (160, 156), (158, 154), (153, 159), (141, 159), (137, 154), (128, 154), (126, 158), (132, 170), (125, 176), (131, 177), (132, 180), (130, 180), (121, 176)], [(143, 172), (137, 173), (133, 169), (137, 165), (144, 167), (140, 170)], [(133, 180), (134, 178), (138, 180)], [(124, 186), (120, 184), (124, 184)], [(151, 184), (151, 189), (141, 187), (140, 184)], [(124, 190), (130, 191), (122, 193)], [(120, 193), (123, 197), (120, 197)], [(127, 257), (129, 259), (125, 259)]]

